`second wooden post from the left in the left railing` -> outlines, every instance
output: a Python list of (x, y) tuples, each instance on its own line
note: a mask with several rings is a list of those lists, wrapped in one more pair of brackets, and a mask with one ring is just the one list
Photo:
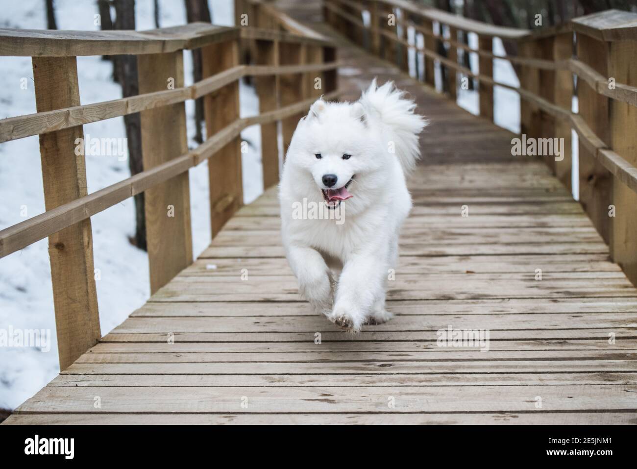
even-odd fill
[[(183, 53), (138, 56), (140, 94), (183, 86)], [(186, 112), (183, 103), (141, 112), (141, 155), (144, 170), (186, 154)], [(192, 264), (188, 173), (145, 193), (146, 236), (153, 294)]]

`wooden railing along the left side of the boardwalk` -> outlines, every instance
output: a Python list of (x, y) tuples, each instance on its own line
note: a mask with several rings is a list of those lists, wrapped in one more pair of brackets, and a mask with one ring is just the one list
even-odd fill
[[(238, 2), (240, 3), (240, 2)], [(0, 120), (0, 142), (39, 135), (46, 212), (0, 231), (0, 257), (49, 238), (61, 370), (101, 337), (90, 217), (145, 192), (151, 291), (193, 261), (188, 170), (208, 161), (212, 236), (243, 204), (241, 130), (261, 126), (264, 187), (278, 182), (280, 150), (318, 96), (337, 96), (334, 44), (286, 31), (287, 18), (257, 1), (245, 27), (194, 23), (152, 31), (0, 29), (0, 55), (31, 56), (37, 113)], [(246, 10), (248, 11), (248, 10)], [(238, 11), (241, 13), (241, 11)], [(271, 22), (276, 29), (253, 24)], [(294, 31), (299, 32), (299, 31)], [(248, 44), (252, 63), (240, 63)], [(203, 80), (183, 83), (183, 50), (201, 50)], [(80, 104), (78, 55), (133, 54), (139, 96)], [(241, 118), (239, 82), (253, 76), (259, 115)], [(315, 78), (320, 78), (318, 84)], [(184, 102), (204, 99), (207, 139), (187, 147)], [(87, 193), (83, 124), (141, 113), (143, 171)], [(277, 122), (283, 122), (279, 148)]]

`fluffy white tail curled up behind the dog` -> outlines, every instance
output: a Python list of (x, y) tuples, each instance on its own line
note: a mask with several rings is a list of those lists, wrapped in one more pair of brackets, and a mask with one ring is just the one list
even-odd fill
[(360, 103), (367, 115), (379, 119), (387, 127), (390, 140), (405, 174), (409, 174), (420, 158), (418, 135), (427, 121), (414, 113), (416, 103), (404, 97), (404, 91), (397, 89), (394, 82), (378, 87), (376, 78), (362, 93)]

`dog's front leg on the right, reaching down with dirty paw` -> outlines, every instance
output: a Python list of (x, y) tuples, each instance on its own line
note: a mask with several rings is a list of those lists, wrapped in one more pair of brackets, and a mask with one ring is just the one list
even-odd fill
[(338, 280), (334, 309), (328, 316), (343, 329), (359, 332), (371, 308), (385, 289), (386, 252), (379, 248), (352, 256)]

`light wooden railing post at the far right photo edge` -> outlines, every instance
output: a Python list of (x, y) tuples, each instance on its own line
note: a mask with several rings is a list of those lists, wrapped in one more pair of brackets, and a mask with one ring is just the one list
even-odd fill
[[(608, 76), (615, 83), (637, 86), (634, 57), (637, 57), (637, 41), (613, 41), (608, 43)], [(621, 101), (610, 106), (610, 146), (633, 166), (637, 166), (637, 108)], [(622, 267), (626, 277), (637, 285), (637, 193), (613, 178), (610, 253)]]

